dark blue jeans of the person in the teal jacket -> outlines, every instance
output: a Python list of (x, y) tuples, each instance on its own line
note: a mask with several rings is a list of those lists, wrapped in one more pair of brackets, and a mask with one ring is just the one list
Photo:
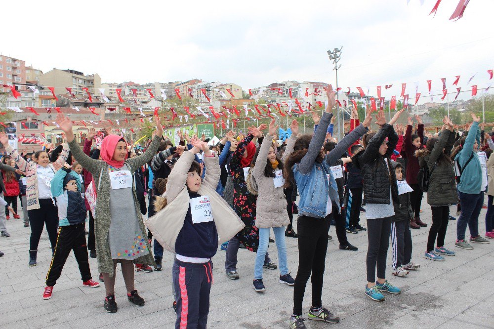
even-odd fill
[(464, 240), (468, 225), (472, 237), (479, 236), (479, 215), (484, 205), (484, 191), (480, 194), (469, 194), (458, 191), (460, 198), (461, 214), (456, 223), (456, 239)]

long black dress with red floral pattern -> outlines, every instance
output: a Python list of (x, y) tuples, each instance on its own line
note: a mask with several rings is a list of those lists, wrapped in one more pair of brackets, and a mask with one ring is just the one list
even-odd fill
[[(252, 141), (253, 135), (248, 134), (237, 146), (237, 150), (232, 155), (230, 170), (233, 178), (233, 209), (245, 224), (245, 228), (237, 233), (237, 238), (250, 251), (257, 251), (259, 247), (259, 229), (255, 227), (255, 208), (257, 196), (253, 196), (247, 190), (244, 177), (244, 168), (241, 159), (246, 150), (247, 144)], [(262, 139), (259, 139), (259, 143)]]

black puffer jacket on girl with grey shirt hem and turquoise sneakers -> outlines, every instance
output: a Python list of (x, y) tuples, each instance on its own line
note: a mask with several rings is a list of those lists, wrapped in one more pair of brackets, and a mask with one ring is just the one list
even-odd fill
[[(379, 154), (379, 147), (388, 137), (388, 149), (384, 156)], [(398, 143), (398, 135), (390, 124), (384, 124), (369, 141), (369, 145), (352, 157), (352, 163), (361, 169), (363, 177), (364, 202), (366, 204), (389, 205), (389, 189), (393, 201), (398, 202), (398, 187), (396, 175), (389, 157)], [(388, 166), (384, 159), (387, 159)]]

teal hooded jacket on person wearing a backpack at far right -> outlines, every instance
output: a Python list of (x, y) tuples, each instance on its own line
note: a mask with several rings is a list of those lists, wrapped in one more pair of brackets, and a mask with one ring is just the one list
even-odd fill
[(461, 173), (461, 179), (458, 183), (458, 191), (468, 194), (480, 194), (482, 192), (480, 189), (482, 187), (482, 168), (480, 167), (479, 157), (475, 155), (473, 151), (473, 144), (475, 140), (480, 145), (480, 130), (479, 123), (474, 122), (468, 131), (468, 136), (466, 136), (465, 145), (463, 149), (454, 157), (454, 161), (458, 162), (460, 166), (466, 164), (470, 156), (473, 154), (472, 160), (463, 169)]

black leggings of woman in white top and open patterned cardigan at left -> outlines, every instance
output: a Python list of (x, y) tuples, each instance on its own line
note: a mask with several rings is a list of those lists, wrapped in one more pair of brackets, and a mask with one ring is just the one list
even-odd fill
[(51, 199), (40, 199), (40, 208), (28, 210), (29, 222), (31, 223), (30, 250), (38, 250), (43, 226), (50, 238), (51, 248), (54, 250), (57, 245), (58, 228), (58, 208)]

